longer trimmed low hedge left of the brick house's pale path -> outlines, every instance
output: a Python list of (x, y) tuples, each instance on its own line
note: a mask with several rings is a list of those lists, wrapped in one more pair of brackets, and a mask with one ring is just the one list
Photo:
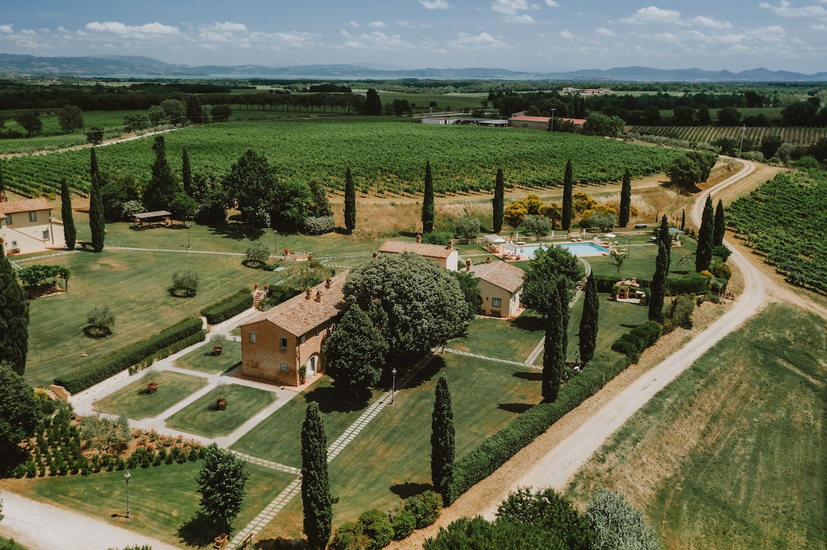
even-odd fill
[[(151, 338), (119, 349), (101, 358), (97, 363), (75, 368), (64, 376), (55, 378), (54, 382), (58, 386), (65, 387), (69, 393), (84, 391), (86, 388), (94, 386), (98, 382), (103, 382), (118, 372), (127, 370), (132, 365), (140, 363), (161, 349), (170, 347), (179, 340), (194, 336), (198, 332), (203, 333), (202, 326), (203, 323), (200, 319), (185, 319), (177, 325), (151, 336)], [(201, 340), (203, 340), (203, 336)]]

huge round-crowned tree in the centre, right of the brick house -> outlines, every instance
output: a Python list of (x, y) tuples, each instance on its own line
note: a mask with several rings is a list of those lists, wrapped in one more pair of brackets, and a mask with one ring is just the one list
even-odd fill
[(343, 291), (370, 316), (392, 357), (412, 358), (466, 330), (457, 279), (418, 254), (381, 254), (352, 269)]

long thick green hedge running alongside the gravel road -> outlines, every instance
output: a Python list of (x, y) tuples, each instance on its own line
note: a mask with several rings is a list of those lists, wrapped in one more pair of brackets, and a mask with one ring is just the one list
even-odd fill
[(448, 487), (449, 500), (457, 500), (476, 483), (489, 477), (563, 415), (595, 395), (606, 382), (629, 367), (629, 364), (629, 358), (620, 353), (600, 353), (589, 362), (586, 369), (571, 377), (571, 380), (560, 388), (557, 401), (543, 401), (534, 405), (499, 432), (485, 439), (479, 447), (454, 465), (454, 479)]

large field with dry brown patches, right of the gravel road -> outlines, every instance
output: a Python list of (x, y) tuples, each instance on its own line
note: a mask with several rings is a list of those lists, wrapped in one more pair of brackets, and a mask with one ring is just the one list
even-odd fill
[(620, 491), (670, 549), (824, 548), (823, 325), (778, 305), (749, 320), (619, 429), (569, 495)]

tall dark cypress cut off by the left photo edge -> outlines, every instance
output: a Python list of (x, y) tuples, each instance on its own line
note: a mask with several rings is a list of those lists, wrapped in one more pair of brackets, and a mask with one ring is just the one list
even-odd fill
[(29, 301), (0, 243), (0, 362), (23, 376), (29, 350)]

